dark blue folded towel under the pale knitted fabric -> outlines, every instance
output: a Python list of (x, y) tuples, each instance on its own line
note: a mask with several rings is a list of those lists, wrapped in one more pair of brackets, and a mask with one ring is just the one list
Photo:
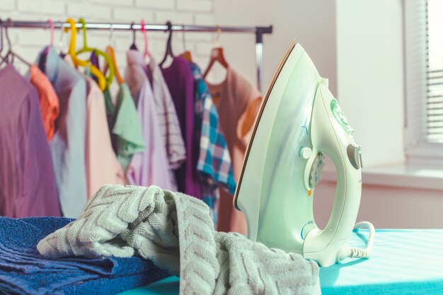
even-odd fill
[(132, 258), (46, 258), (36, 248), (48, 234), (74, 219), (0, 216), (0, 294), (118, 294), (168, 277), (168, 272)]

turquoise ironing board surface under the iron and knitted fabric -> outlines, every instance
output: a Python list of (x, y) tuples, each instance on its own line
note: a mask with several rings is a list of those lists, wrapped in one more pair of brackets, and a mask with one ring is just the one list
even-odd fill
[[(363, 247), (367, 232), (352, 234), (350, 245)], [(178, 295), (178, 277), (121, 295)], [(376, 230), (372, 258), (344, 260), (320, 270), (323, 295), (443, 294), (443, 230)]]

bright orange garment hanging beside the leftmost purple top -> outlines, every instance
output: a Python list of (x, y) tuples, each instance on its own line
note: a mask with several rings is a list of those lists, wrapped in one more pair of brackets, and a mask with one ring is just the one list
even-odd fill
[(51, 82), (37, 65), (33, 64), (30, 67), (29, 76), (30, 83), (38, 93), (43, 127), (45, 127), (47, 140), (50, 141), (55, 133), (55, 119), (59, 115), (59, 98), (57, 98), (57, 93), (55, 93)]

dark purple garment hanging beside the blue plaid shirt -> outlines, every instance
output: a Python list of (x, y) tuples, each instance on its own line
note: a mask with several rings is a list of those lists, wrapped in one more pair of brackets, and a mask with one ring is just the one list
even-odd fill
[(189, 62), (182, 57), (174, 57), (171, 66), (162, 69), (162, 72), (176, 107), (186, 146), (186, 162), (176, 170), (178, 190), (201, 199), (200, 174), (197, 171), (200, 146), (194, 139), (194, 75)]

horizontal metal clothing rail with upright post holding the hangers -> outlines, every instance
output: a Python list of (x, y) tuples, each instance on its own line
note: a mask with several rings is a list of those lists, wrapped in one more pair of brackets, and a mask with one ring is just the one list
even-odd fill
[[(54, 22), (54, 28), (70, 28), (71, 24), (65, 22)], [(3, 28), (50, 28), (50, 23), (45, 21), (2, 21)], [(76, 23), (76, 28), (82, 28), (81, 23)], [(86, 23), (88, 30), (141, 30), (142, 25), (135, 23)], [(257, 86), (262, 90), (263, 85), (263, 35), (272, 33), (272, 25), (268, 27), (230, 27), (209, 25), (156, 25), (146, 24), (145, 30), (150, 31), (187, 31), (187, 32), (217, 32), (222, 33), (253, 33), (255, 34), (255, 62), (257, 67)], [(3, 30), (0, 30), (0, 50), (3, 48)]]

